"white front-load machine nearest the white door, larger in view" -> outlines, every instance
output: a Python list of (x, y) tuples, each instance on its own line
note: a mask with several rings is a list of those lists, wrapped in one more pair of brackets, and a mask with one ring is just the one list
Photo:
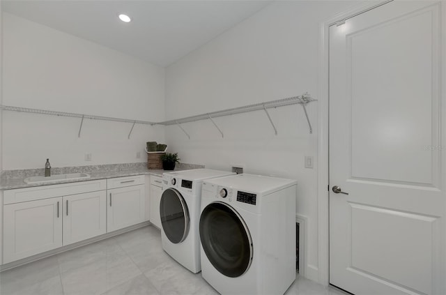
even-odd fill
[(295, 280), (297, 182), (238, 174), (203, 182), (201, 275), (221, 294), (284, 294)]

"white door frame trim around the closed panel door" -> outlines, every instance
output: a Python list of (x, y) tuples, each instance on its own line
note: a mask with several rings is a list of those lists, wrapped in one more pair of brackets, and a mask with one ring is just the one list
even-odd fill
[[(318, 75), (318, 282), (322, 285), (329, 284), (329, 227), (328, 227), (328, 116), (329, 116), (329, 100), (328, 100), (328, 77), (329, 77), (329, 38), (330, 26), (341, 20), (354, 17), (360, 13), (381, 6), (392, 0), (381, 1), (380, 3), (362, 2), (355, 4), (351, 8), (342, 13), (333, 15), (328, 20), (320, 24), (319, 38), (319, 75)], [(446, 5), (442, 5), (442, 15), (446, 15)], [(442, 23), (442, 29), (445, 24)], [(444, 33), (442, 33), (443, 35)], [(441, 48), (446, 48), (446, 38), (442, 38)], [(446, 59), (442, 61), (442, 73), (446, 73)], [(441, 78), (442, 84), (446, 84), (446, 75)], [(442, 90), (442, 97), (446, 97), (446, 87)], [(446, 114), (446, 103), (442, 104), (443, 114)], [(444, 139), (443, 139), (444, 140)]]

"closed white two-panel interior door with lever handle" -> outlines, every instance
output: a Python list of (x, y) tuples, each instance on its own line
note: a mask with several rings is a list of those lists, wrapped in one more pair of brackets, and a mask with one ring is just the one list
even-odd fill
[(444, 4), (330, 27), (330, 283), (353, 294), (446, 294)]

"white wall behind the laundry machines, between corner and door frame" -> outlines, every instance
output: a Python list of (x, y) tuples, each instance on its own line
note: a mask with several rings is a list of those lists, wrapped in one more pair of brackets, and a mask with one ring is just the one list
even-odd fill
[[(318, 98), (318, 41), (323, 20), (351, 2), (280, 1), (267, 6), (166, 70), (166, 119), (298, 96)], [(184, 162), (298, 180), (297, 212), (308, 218), (305, 275), (318, 280), (317, 171), (305, 169), (305, 156), (317, 166), (318, 103), (271, 109), (275, 136), (262, 111), (166, 128), (167, 144)]]

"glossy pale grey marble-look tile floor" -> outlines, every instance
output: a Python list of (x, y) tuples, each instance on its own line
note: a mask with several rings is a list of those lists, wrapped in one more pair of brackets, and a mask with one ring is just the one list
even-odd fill
[[(218, 294), (162, 250), (147, 226), (0, 273), (0, 294)], [(286, 294), (344, 295), (299, 275)]]

